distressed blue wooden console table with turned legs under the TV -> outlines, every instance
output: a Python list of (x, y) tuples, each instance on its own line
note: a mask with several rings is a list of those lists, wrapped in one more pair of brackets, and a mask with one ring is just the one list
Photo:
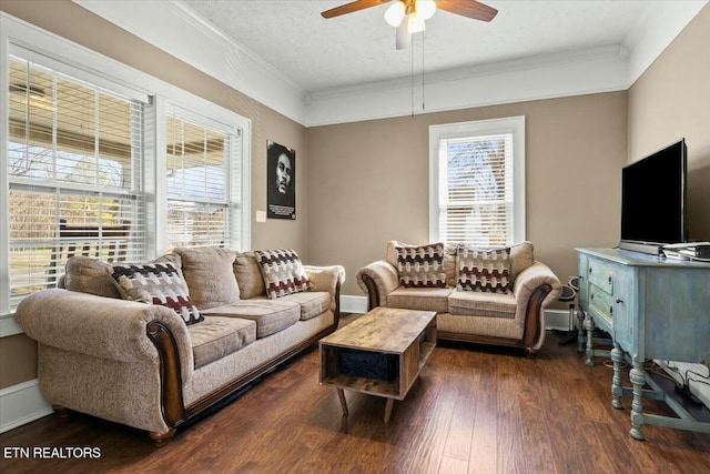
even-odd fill
[[(645, 423), (710, 433), (710, 423), (696, 421), (647, 376), (651, 359), (710, 363), (710, 263), (671, 260), (618, 249), (576, 249), (579, 256), (579, 301), (587, 330), (587, 364), (598, 355), (595, 326), (611, 334), (613, 377), (611, 404), (633, 395), (631, 431), (643, 440)], [(632, 387), (621, 386), (621, 365), (628, 355)], [(645, 383), (651, 390), (643, 390)], [(679, 417), (645, 414), (642, 399), (662, 400)]]

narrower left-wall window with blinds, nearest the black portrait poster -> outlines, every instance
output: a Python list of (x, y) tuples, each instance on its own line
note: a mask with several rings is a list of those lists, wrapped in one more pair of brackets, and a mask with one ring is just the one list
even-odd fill
[(169, 113), (166, 118), (168, 250), (240, 248), (240, 132)]

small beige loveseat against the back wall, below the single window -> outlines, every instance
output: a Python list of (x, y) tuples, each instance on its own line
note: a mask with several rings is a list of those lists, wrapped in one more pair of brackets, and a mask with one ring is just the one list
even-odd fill
[(457, 289), (458, 246), (444, 248), (444, 288), (405, 288), (397, 246), (406, 244), (388, 242), (385, 260), (357, 272), (368, 309), (436, 311), (438, 339), (520, 347), (528, 356), (537, 354), (545, 342), (545, 307), (559, 297), (561, 283), (547, 265), (535, 260), (532, 243), (510, 248), (508, 293)]

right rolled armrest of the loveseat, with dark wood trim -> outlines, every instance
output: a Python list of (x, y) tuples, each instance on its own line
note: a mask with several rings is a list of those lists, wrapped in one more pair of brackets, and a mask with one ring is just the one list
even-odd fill
[(534, 262), (516, 276), (513, 282), (517, 306), (515, 317), (525, 325), (525, 347), (537, 351), (542, 346), (545, 307), (556, 301), (561, 291), (559, 279), (542, 262)]

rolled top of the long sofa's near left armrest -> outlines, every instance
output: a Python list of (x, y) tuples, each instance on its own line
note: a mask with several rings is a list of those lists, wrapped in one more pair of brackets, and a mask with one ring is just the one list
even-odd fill
[(169, 307), (48, 289), (26, 297), (16, 314), (24, 333), (41, 344), (121, 362), (158, 361), (148, 334), (149, 325), (158, 323), (174, 340), (182, 380), (191, 379), (190, 334)]

